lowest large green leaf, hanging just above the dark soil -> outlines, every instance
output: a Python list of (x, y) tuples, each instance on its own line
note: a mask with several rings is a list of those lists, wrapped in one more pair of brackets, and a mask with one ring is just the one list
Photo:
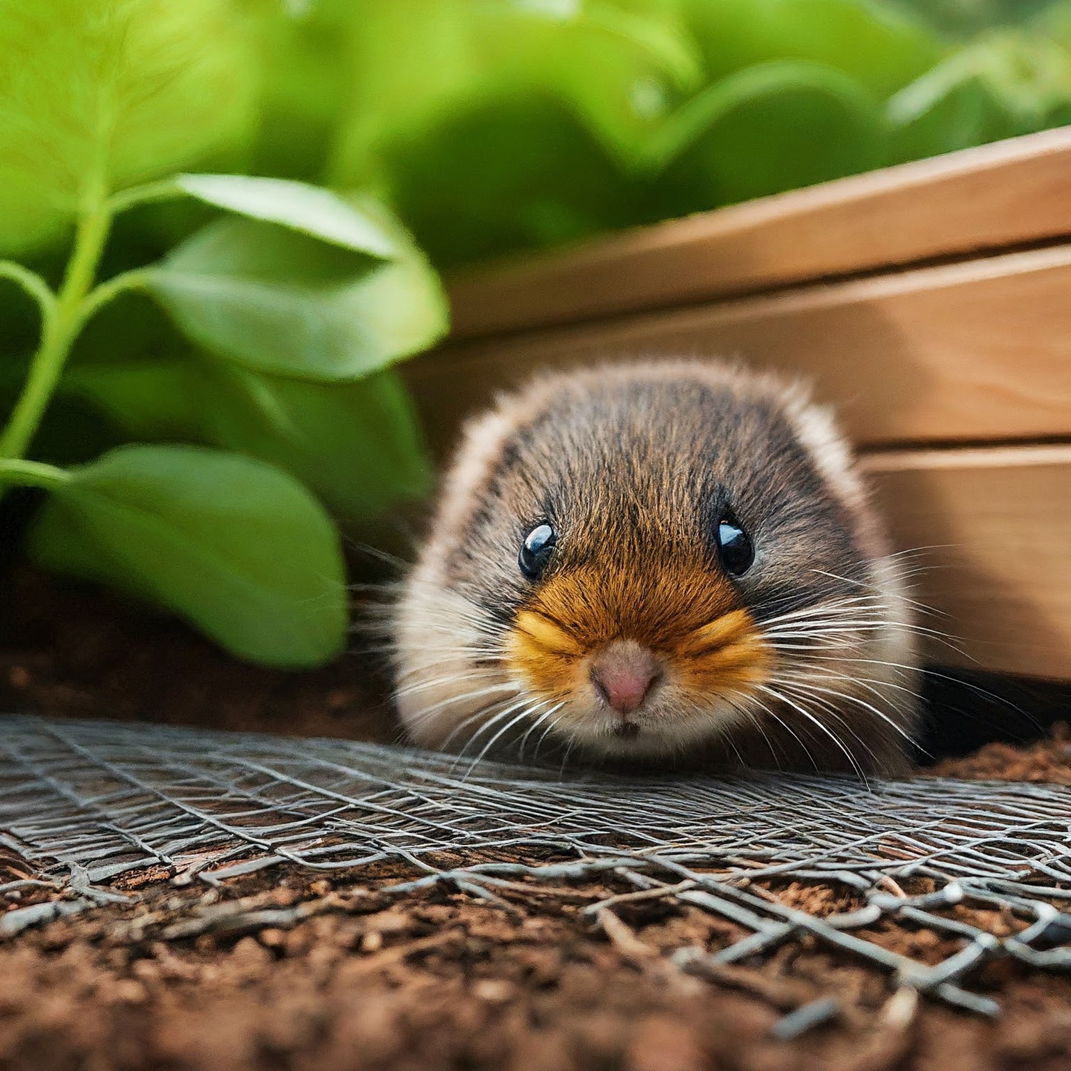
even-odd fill
[(338, 537), (291, 477), (236, 454), (149, 446), (71, 476), (31, 533), (45, 568), (147, 597), (252, 662), (301, 668), (343, 650)]

